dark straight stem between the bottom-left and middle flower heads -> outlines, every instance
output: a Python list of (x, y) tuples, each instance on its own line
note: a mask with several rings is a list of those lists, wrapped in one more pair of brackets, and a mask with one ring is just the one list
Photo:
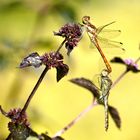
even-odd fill
[(33, 98), (35, 92), (37, 91), (37, 89), (38, 89), (39, 85), (41, 84), (43, 78), (45, 77), (47, 71), (48, 71), (48, 67), (46, 66), (45, 69), (44, 69), (44, 71), (40, 75), (40, 77), (39, 77), (36, 85), (34, 86), (34, 88), (33, 88), (32, 92), (31, 92), (30, 96), (28, 97), (28, 99), (27, 99), (27, 101), (26, 101), (26, 103), (25, 103), (25, 105), (24, 105), (24, 107), (23, 107), (23, 109), (21, 111), (22, 113), (26, 112), (26, 110), (27, 110), (27, 108), (29, 106), (29, 103), (31, 102), (31, 99)]

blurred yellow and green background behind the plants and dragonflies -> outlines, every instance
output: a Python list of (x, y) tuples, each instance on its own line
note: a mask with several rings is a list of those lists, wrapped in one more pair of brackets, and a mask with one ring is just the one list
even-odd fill
[[(0, 104), (10, 108), (23, 107), (43, 68), (17, 68), (31, 52), (43, 54), (56, 50), (61, 37), (53, 35), (65, 23), (81, 23), (84, 15), (91, 17), (94, 25), (101, 26), (116, 21), (108, 28), (120, 29), (115, 40), (123, 42), (125, 53), (114, 56), (137, 59), (140, 56), (140, 1), (139, 0), (0, 0)], [(97, 51), (92, 51), (85, 35), (65, 63), (69, 74), (56, 82), (55, 69), (51, 69), (36, 92), (27, 110), (31, 127), (53, 136), (92, 102), (92, 95), (68, 80), (76, 77), (93, 79), (100, 73), (103, 62)], [(111, 51), (111, 53), (109, 53)], [(111, 64), (114, 81), (125, 67)], [(66, 140), (138, 140), (140, 139), (140, 73), (128, 73), (112, 90), (109, 104), (116, 107), (122, 119), (118, 130), (110, 119), (108, 132), (104, 130), (104, 108), (97, 106), (86, 114), (62, 137)], [(8, 119), (0, 115), (0, 139), (9, 134)]]

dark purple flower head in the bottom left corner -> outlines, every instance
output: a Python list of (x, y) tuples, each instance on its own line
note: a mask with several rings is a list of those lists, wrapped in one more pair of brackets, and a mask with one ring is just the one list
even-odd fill
[(11, 119), (11, 121), (8, 123), (10, 134), (7, 139), (24, 140), (29, 137), (32, 130), (29, 127), (29, 122), (25, 112), (21, 112), (22, 110), (20, 108), (14, 108), (7, 113), (1, 106), (0, 111), (5, 117)]

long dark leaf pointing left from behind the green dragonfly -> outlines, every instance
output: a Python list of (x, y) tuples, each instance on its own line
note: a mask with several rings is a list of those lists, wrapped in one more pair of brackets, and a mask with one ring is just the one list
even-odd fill
[(75, 78), (75, 79), (71, 79), (70, 82), (86, 88), (87, 90), (92, 92), (92, 95), (94, 97), (99, 98), (100, 96), (99, 88), (95, 84), (93, 84), (90, 80), (85, 78)]

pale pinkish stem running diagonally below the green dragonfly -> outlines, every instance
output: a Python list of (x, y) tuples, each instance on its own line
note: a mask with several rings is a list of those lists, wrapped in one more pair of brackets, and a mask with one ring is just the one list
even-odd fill
[(61, 136), (64, 132), (69, 130), (76, 122), (80, 120), (82, 116), (84, 116), (87, 112), (89, 112), (94, 106), (98, 105), (96, 100), (93, 100), (93, 102), (86, 108), (84, 109), (75, 119), (73, 119), (68, 125), (66, 125), (63, 129), (59, 130), (52, 139)]

